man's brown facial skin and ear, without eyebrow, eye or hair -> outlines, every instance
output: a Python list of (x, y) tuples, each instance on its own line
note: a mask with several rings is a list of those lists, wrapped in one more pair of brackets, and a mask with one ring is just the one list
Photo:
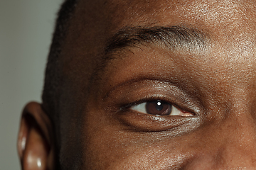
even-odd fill
[[(255, 169), (255, 7), (254, 1), (80, 1), (61, 54), (63, 169)], [(118, 30), (180, 25), (208, 33), (208, 48), (129, 47), (94, 75)], [(150, 96), (193, 116), (122, 107)], [(39, 104), (26, 106), (18, 137), (23, 169), (40, 169), (38, 159), (54, 169), (51, 127)]]

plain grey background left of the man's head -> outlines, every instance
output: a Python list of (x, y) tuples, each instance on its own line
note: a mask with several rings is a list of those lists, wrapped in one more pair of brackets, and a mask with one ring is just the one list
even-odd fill
[(43, 73), (62, 0), (0, 0), (0, 169), (20, 169), (21, 110), (41, 102)]

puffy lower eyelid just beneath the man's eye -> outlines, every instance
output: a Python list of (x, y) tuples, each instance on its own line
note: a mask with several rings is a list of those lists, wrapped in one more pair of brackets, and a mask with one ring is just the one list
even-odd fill
[[(132, 112), (132, 114), (131, 114)], [(125, 125), (127, 130), (135, 132), (161, 132), (166, 130), (170, 134), (178, 135), (181, 132), (187, 132), (201, 125), (201, 117), (181, 117), (173, 116), (159, 116), (140, 113), (138, 111), (127, 112), (123, 111), (118, 114), (116, 118)]]

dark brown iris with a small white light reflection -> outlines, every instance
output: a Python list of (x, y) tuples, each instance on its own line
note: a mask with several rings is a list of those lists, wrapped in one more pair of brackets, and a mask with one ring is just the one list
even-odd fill
[(146, 113), (151, 115), (170, 115), (171, 104), (164, 101), (149, 101), (146, 103)]

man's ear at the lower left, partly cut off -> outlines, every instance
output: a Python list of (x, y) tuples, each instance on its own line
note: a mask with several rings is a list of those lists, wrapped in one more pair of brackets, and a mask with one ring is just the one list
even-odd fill
[(18, 155), (23, 170), (55, 168), (53, 126), (39, 103), (28, 103), (23, 110)]

